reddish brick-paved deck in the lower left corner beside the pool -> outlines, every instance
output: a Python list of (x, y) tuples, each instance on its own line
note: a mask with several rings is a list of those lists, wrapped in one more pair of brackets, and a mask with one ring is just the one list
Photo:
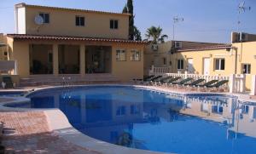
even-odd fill
[(68, 143), (49, 130), (43, 111), (0, 112), (7, 153), (98, 154)]

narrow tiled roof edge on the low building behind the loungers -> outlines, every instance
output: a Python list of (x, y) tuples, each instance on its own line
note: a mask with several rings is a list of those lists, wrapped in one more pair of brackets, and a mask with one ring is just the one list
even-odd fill
[(178, 52), (201, 51), (201, 50), (224, 49), (224, 48), (232, 48), (232, 45), (231, 44), (222, 44), (222, 45), (212, 45), (212, 46), (194, 47), (194, 48), (180, 48), (177, 51)]

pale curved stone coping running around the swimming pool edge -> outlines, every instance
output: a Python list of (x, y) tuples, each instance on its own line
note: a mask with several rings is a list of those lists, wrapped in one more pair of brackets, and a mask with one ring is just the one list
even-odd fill
[[(117, 86), (117, 87), (134, 87), (134, 88), (143, 88), (152, 90), (154, 92), (159, 93), (166, 93), (166, 94), (223, 94), (228, 96), (236, 96), (238, 100), (243, 101), (249, 101), (249, 102), (256, 102), (253, 100), (243, 100), (240, 99), (241, 94), (230, 94), (230, 93), (212, 93), (212, 92), (177, 92), (172, 89), (164, 89), (160, 87), (153, 87), (153, 86), (142, 86), (142, 85), (130, 85), (130, 84), (93, 84), (93, 85), (73, 85), (70, 86), (70, 88), (79, 88), (79, 87), (96, 87), (96, 86)], [(108, 142), (102, 141), (102, 140), (96, 140), (94, 138), (91, 138), (85, 134), (82, 134), (79, 132), (79, 130), (73, 128), (73, 126), (68, 122), (67, 117), (65, 114), (57, 108), (53, 109), (31, 109), (31, 108), (14, 108), (14, 107), (7, 107), (5, 105), (7, 104), (16, 104), (16, 103), (25, 103), (30, 101), (29, 98), (26, 98), (26, 96), (30, 94), (36, 94), (40, 91), (48, 90), (48, 89), (59, 89), (63, 88), (63, 86), (53, 86), (53, 87), (44, 87), (44, 88), (34, 88), (31, 91), (29, 91), (26, 95), (22, 97), (8, 97), (3, 96), (0, 98), (4, 99), (12, 99), (3, 103), (0, 103), (0, 111), (44, 111), (44, 114), (47, 117), (48, 125), (50, 130), (54, 131), (56, 134), (58, 134), (62, 139), (69, 141), (73, 145), (79, 145), (81, 147), (91, 149), (94, 151), (98, 151), (101, 153), (106, 154), (131, 154), (131, 153), (137, 153), (137, 154), (163, 154), (166, 152), (158, 152), (158, 151), (147, 151), (147, 150), (139, 150), (134, 148), (128, 148), (121, 145), (113, 145)]]

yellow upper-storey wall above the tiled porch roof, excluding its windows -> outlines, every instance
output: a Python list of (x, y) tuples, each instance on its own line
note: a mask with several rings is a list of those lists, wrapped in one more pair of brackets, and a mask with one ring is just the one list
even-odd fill
[[(128, 39), (129, 15), (104, 13), (80, 9), (62, 9), (34, 6), (24, 3), (16, 5), (17, 32), (32, 35), (106, 37)], [(38, 14), (49, 14), (49, 23), (37, 25)], [(84, 26), (76, 26), (76, 16), (84, 17)], [(118, 29), (110, 29), (110, 20), (118, 20)]]

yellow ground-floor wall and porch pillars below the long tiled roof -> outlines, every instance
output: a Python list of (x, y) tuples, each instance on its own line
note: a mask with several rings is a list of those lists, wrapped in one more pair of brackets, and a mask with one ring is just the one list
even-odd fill
[[(80, 55), (80, 72), (82, 76), (85, 75), (84, 68), (85, 66), (85, 56), (86, 46), (90, 45), (99, 45), (99, 46), (109, 46), (112, 47), (111, 50), (111, 74), (114, 77), (117, 77), (120, 81), (130, 81), (132, 78), (142, 78), (143, 77), (143, 50), (144, 44), (137, 43), (86, 43), (86, 42), (61, 42), (61, 41), (13, 41), (11, 37), (8, 37), (9, 40), (9, 53), (10, 60), (16, 60), (17, 62), (17, 72), (20, 77), (29, 77), (30, 73), (30, 61), (29, 61), (29, 45), (30, 44), (46, 44), (51, 45), (53, 48), (53, 75), (58, 75), (58, 48), (59, 44), (73, 44), (82, 48), (79, 50)], [(125, 49), (125, 61), (116, 60), (116, 50)], [(131, 60), (131, 51), (136, 49), (140, 51), (141, 58), (138, 61)]]

